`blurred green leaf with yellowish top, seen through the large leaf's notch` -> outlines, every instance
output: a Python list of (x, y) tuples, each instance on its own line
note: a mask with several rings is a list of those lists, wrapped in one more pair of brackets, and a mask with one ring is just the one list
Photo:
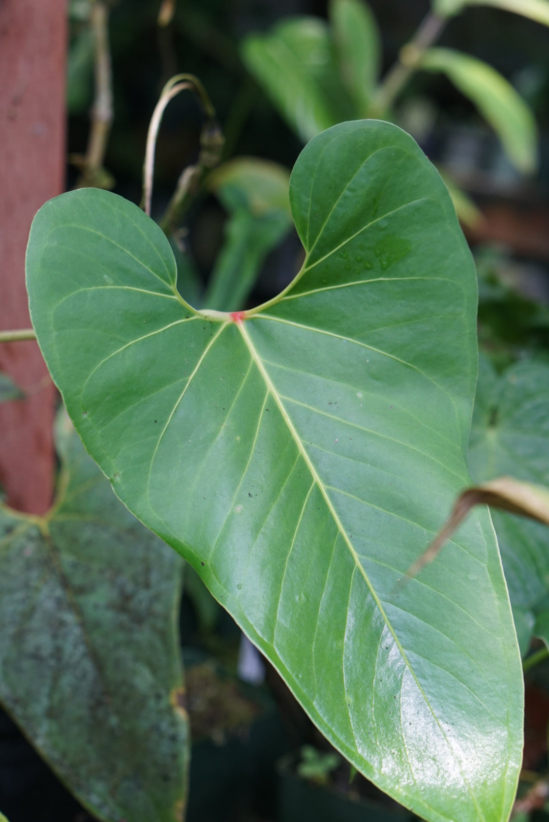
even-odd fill
[(210, 190), (230, 216), (203, 300), (206, 307), (244, 307), (265, 257), (292, 225), (289, 182), (288, 169), (251, 158), (225, 163), (210, 175)]

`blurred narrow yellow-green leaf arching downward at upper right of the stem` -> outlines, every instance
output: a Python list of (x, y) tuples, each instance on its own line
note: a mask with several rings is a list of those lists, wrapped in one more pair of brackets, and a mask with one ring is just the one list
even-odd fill
[(519, 171), (531, 173), (536, 169), (536, 120), (524, 99), (495, 68), (451, 48), (427, 49), (422, 68), (442, 72), (473, 101)]

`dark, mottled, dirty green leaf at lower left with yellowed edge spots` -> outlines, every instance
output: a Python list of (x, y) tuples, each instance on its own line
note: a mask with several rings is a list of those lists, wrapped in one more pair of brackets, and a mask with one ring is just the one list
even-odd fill
[(94, 816), (178, 822), (181, 560), (120, 504), (66, 415), (57, 445), (48, 514), (0, 506), (0, 700)]

